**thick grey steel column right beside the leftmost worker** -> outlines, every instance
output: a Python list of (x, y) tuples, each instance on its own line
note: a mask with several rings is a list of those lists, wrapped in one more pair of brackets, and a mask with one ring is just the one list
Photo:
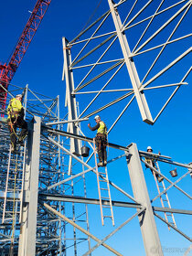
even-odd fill
[(40, 118), (34, 117), (27, 139), (27, 165), (25, 171), (24, 202), (19, 236), (19, 256), (36, 255), (37, 193), (40, 150)]

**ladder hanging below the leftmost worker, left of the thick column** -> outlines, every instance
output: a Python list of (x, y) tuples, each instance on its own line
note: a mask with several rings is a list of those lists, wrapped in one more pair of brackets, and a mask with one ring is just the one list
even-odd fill
[(7, 173), (5, 180), (4, 208), (2, 224), (12, 225), (13, 232), (16, 223), (21, 221), (23, 202), (24, 171), (26, 165), (26, 144), (19, 147), (16, 154), (9, 149)]

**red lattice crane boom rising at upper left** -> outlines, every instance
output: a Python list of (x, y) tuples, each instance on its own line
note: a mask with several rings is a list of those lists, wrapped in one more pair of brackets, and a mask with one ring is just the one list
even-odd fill
[[(21, 60), (24, 58), (27, 48), (36, 34), (37, 28), (40, 25), (50, 2), (51, 0), (37, 0), (37, 4), (27, 21), (27, 25), (18, 39), (14, 53), (10, 59), (8, 59), (7, 63), (0, 63), (0, 84), (2, 84), (5, 89), (8, 88), (8, 84), (13, 79)], [(2, 87), (0, 87), (0, 109), (2, 111), (5, 110), (5, 101), (6, 92)]]

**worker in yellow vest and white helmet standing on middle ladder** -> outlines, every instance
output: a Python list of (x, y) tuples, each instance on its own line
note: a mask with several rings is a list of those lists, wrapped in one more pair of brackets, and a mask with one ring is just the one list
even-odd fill
[(97, 135), (95, 137), (95, 144), (98, 150), (99, 155), (99, 163), (98, 166), (105, 166), (107, 165), (107, 127), (104, 122), (101, 121), (101, 117), (96, 115), (94, 118), (95, 122), (97, 123), (94, 127), (91, 127), (91, 124), (88, 123), (88, 127), (91, 131), (97, 130)]

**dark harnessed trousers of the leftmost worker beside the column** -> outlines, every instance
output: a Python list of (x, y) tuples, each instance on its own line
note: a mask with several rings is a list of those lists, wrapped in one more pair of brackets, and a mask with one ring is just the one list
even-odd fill
[(27, 136), (27, 122), (18, 115), (18, 117), (11, 117), (8, 119), (8, 128), (10, 132), (11, 144), (16, 148), (16, 128), (21, 128), (21, 133), (18, 136), (18, 140), (22, 142)]

